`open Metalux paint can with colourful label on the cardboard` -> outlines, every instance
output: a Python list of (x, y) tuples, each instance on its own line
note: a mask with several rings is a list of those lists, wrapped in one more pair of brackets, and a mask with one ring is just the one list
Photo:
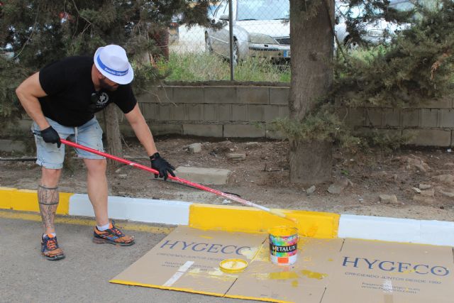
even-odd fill
[(287, 226), (270, 228), (270, 260), (277, 265), (297, 262), (298, 229)]

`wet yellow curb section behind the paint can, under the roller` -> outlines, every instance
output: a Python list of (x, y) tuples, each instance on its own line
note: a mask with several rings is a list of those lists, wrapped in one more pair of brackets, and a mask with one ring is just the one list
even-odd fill
[(244, 206), (192, 204), (189, 206), (189, 226), (221, 231), (267, 233), (275, 226), (297, 227), (301, 236), (337, 238), (339, 214), (316, 211), (279, 209), (296, 224), (266, 211)]

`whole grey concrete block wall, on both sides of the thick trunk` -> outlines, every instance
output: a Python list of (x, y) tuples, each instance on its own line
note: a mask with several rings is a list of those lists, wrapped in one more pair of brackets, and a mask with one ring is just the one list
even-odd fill
[[(281, 139), (281, 133), (270, 131), (270, 122), (289, 116), (289, 87), (273, 84), (166, 85), (150, 87), (148, 93), (137, 98), (154, 135)], [(358, 131), (377, 129), (404, 136), (411, 133), (416, 135), (411, 141), (414, 145), (454, 146), (453, 97), (404, 109), (336, 106), (341, 119)], [(121, 111), (118, 113), (123, 136), (133, 136)], [(103, 115), (97, 116), (104, 127)], [(14, 131), (23, 131), (31, 138), (30, 125), (31, 121), (24, 119)], [(6, 138), (8, 133), (13, 131), (0, 136)], [(6, 145), (10, 149), (16, 146)]]

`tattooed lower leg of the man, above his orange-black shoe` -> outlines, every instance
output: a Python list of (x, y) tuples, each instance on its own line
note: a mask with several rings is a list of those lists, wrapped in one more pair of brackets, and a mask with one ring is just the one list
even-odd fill
[(58, 187), (38, 186), (38, 203), (44, 228), (55, 228), (54, 219), (57, 211), (59, 194)]

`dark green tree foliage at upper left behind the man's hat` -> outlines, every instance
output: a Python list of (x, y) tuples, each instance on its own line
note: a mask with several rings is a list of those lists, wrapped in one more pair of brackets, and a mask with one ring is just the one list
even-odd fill
[[(209, 26), (209, 1), (8, 0), (0, 1), (0, 116), (11, 123), (21, 112), (14, 90), (50, 62), (70, 55), (93, 55), (107, 44), (123, 46), (135, 67), (136, 90), (165, 75), (144, 57), (158, 54), (155, 33), (167, 31), (172, 16)], [(6, 50), (6, 46), (11, 50)], [(14, 57), (6, 60), (7, 51)]]

